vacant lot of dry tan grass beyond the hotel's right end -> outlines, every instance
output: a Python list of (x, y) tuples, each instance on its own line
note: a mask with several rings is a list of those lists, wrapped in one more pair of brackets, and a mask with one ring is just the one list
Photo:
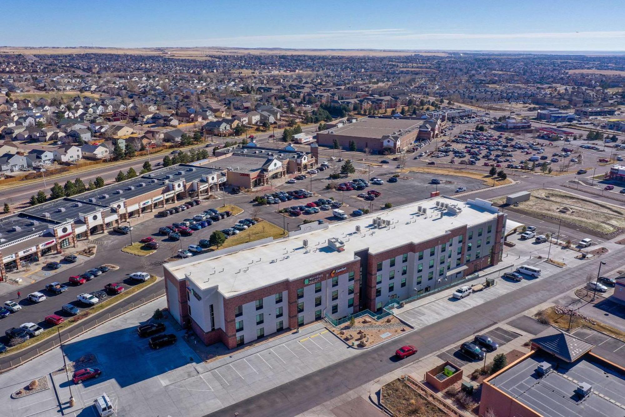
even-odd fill
[[(532, 190), (531, 194), (529, 201), (520, 203), (519, 207), (514, 207), (514, 211), (526, 212), (537, 218), (551, 217), (606, 235), (625, 229), (625, 209), (615, 205), (557, 190), (538, 189)], [(505, 197), (496, 198), (493, 203), (499, 205), (505, 200)], [(564, 208), (566, 211), (559, 211)]]

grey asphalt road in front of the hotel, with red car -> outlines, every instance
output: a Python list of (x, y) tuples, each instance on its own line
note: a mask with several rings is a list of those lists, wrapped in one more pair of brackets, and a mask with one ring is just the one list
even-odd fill
[[(601, 260), (608, 264), (616, 264), (621, 262), (621, 258), (620, 252), (611, 252), (602, 256)], [(207, 414), (207, 416), (297, 415), (314, 408), (317, 404), (347, 393), (361, 384), (402, 368), (412, 361), (424, 358), (460, 339), (469, 337), (481, 329), (506, 321), (557, 294), (581, 286), (586, 281), (586, 275), (596, 271), (598, 262), (599, 260), (590, 261), (578, 267), (574, 272), (562, 270), (558, 274), (509, 292), (462, 314), (449, 317), (419, 331), (409, 332), (392, 343), (367, 349), (346, 361), (332, 364), (316, 373), (307, 374), (291, 383), (277, 386), (232, 406)], [(410, 358), (398, 361), (394, 358), (395, 349), (404, 344), (416, 346), (419, 352)]]

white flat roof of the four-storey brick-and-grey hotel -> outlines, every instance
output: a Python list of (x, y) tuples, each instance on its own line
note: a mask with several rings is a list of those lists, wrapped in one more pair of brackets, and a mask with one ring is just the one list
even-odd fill
[[(457, 215), (443, 211), (441, 217), (436, 202), (454, 204), (462, 210)], [(416, 215), (419, 205), (427, 209), (426, 215)], [(249, 249), (221, 255), (209, 252), (163, 266), (179, 280), (187, 275), (199, 289), (219, 286), (219, 292), (228, 298), (285, 278), (292, 281), (346, 264), (362, 249), (368, 248), (371, 253), (384, 252), (408, 242), (430, 240), (462, 225), (483, 224), (495, 219), (497, 212), (491, 203), (479, 198), (462, 202), (451, 197), (433, 197)], [(376, 217), (391, 220), (390, 227), (374, 228), (372, 221)], [(361, 232), (356, 232), (357, 225)], [(332, 237), (345, 242), (342, 252), (327, 247), (327, 240)], [(304, 239), (308, 240), (307, 249), (302, 245)]]

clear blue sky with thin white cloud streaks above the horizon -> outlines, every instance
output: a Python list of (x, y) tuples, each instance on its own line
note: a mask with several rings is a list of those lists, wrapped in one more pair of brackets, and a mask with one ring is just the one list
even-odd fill
[(624, 6), (623, 0), (31, 0), (11, 7), (0, 44), (624, 51)]

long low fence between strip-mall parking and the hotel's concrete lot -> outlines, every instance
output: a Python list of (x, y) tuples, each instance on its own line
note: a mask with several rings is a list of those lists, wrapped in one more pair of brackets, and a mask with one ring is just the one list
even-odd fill
[[(98, 319), (95, 319), (89, 323), (83, 324), (82, 326), (75, 326), (75, 327), (70, 327), (71, 330), (69, 330), (66, 333), (61, 333), (61, 340), (63, 341), (63, 343), (70, 341), (71, 339), (74, 339), (74, 337), (80, 336), (81, 334), (83, 334), (86, 331), (89, 331), (91, 329), (93, 329), (94, 327), (99, 326), (100, 324), (103, 324), (106, 321), (109, 321), (111, 319), (114, 319), (117, 316), (121, 316), (121, 314), (124, 314), (128, 311), (131, 311), (133, 309), (136, 309), (137, 307), (143, 306), (143, 304), (146, 304), (146, 302), (150, 302), (153, 301), (154, 299), (157, 299), (158, 297), (164, 296), (165, 295), (165, 290), (159, 290), (158, 292), (155, 292), (154, 294), (151, 294), (149, 296), (143, 297), (141, 299), (139, 299), (138, 301), (135, 302), (131, 302), (130, 304), (128, 304), (127, 306), (124, 307), (119, 307), (107, 314), (104, 314), (104, 316), (99, 317)], [(57, 346), (59, 346), (59, 340), (58, 337), (56, 336), (52, 336), (51, 337), (51, 341), (46, 342), (44, 344), (42, 344), (41, 346), (32, 349), (31, 351), (29, 351), (28, 353), (25, 353), (21, 356), (19, 356), (19, 358), (15, 358), (12, 359), (11, 361), (7, 361), (7, 362), (2, 362), (0, 363), (0, 373), (4, 373), (6, 371), (9, 371), (13, 368), (16, 368), (17, 366), (30, 361), (31, 359), (36, 358), (37, 356), (46, 353), (47, 351), (56, 348)], [(0, 359), (1, 360), (1, 359)]]

